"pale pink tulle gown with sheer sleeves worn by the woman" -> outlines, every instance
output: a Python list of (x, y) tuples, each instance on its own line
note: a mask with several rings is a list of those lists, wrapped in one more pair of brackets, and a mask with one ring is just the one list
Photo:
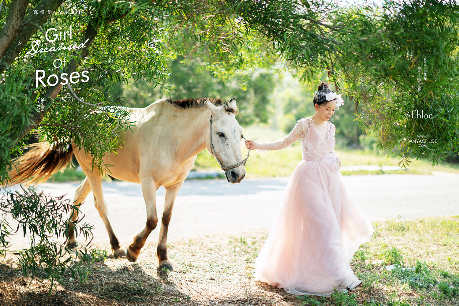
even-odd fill
[(255, 278), (294, 295), (330, 296), (356, 281), (349, 262), (374, 230), (342, 181), (333, 152), (335, 125), (327, 124), (327, 138), (312, 119), (303, 118), (284, 139), (258, 144), (261, 151), (282, 149), (297, 139), (302, 144), (302, 161), (255, 261)]

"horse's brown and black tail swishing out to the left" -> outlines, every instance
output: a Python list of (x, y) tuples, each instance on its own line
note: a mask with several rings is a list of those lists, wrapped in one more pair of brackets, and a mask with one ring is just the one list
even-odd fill
[(66, 145), (38, 142), (29, 148), (24, 155), (12, 160), (12, 169), (8, 172), (10, 185), (26, 181), (27, 185), (46, 182), (57, 171), (63, 171), (72, 160), (72, 145), (67, 149)]

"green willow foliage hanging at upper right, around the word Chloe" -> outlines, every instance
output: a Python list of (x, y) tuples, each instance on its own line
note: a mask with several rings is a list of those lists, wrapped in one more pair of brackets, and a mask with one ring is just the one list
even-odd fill
[[(218, 19), (230, 31), (222, 36), (209, 34), (213, 45), (222, 45), (218, 39), (223, 37), (226, 45), (244, 46), (235, 50), (251, 50), (241, 30), (249, 37), (267, 39), (255, 51), (266, 46), (263, 51), (268, 55), (285, 59), (311, 90), (318, 83), (314, 76), (326, 70), (336, 90), (355, 103), (361, 126), (377, 136), (381, 150), (398, 156), (400, 165), (406, 167), (411, 158), (435, 163), (458, 148), (459, 6), (455, 1), (387, 0), (382, 7), (347, 8), (315, 0), (231, 3), (235, 11)], [(184, 22), (199, 10), (194, 1), (187, 5), (191, 13)], [(215, 28), (209, 23), (204, 22), (198, 33)], [(219, 56), (226, 52), (217, 51)], [(222, 64), (218, 72), (223, 75), (232, 67), (232, 62)]]

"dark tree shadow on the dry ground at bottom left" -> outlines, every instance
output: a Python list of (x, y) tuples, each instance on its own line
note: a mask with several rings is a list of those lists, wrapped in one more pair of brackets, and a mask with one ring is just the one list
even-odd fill
[(125, 265), (124, 259), (118, 267), (107, 265), (104, 261), (95, 262), (86, 282), (71, 278), (67, 284), (57, 284), (51, 293), (50, 282), (26, 278), (22, 272), (2, 264), (0, 268), (0, 305), (2, 306), (78, 306), (78, 305), (197, 305), (190, 296), (177, 289), (174, 282), (168, 281), (167, 273), (157, 271), (156, 277), (149, 269), (137, 263)]

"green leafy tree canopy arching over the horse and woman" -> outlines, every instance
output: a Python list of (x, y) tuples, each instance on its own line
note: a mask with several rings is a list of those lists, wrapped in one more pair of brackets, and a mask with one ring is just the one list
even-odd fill
[[(285, 60), (311, 90), (325, 69), (338, 93), (355, 103), (362, 126), (403, 164), (411, 157), (437, 161), (458, 145), (455, 2), (386, 1), (382, 8), (317, 0), (2, 4), (3, 181), (11, 153), (31, 133), (55, 144), (74, 139), (102, 167), (101, 157), (118, 148), (119, 132), (128, 128), (126, 112), (111, 107), (122, 101), (106, 89), (120, 81), (165, 83), (177, 57), (199, 61), (221, 81), (236, 72), (252, 76), (257, 68), (279, 70)], [(74, 77), (66, 84), (62, 73)], [(247, 84), (249, 77), (241, 87)], [(252, 84), (252, 90), (264, 89)], [(262, 113), (256, 116), (265, 120)], [(421, 147), (419, 138), (431, 142)]]

